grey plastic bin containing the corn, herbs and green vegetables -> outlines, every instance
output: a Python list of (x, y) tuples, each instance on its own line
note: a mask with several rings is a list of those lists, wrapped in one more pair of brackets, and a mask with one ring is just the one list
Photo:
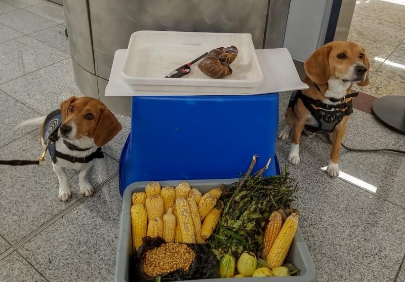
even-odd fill
[[(177, 186), (182, 180), (159, 181), (161, 186)], [(198, 188), (201, 192), (218, 186), (221, 183), (231, 184), (238, 179), (214, 179), (214, 180), (188, 180), (190, 186)], [(144, 191), (149, 181), (132, 183), (125, 189), (123, 195), (123, 210), (119, 220), (119, 238), (117, 249), (117, 260), (115, 264), (115, 282), (125, 282), (129, 280), (129, 263), (132, 256), (132, 234), (131, 234), (131, 205), (132, 194), (134, 192)], [(298, 267), (300, 276), (291, 277), (246, 277), (238, 278), (238, 281), (257, 282), (258, 280), (270, 280), (279, 282), (313, 282), (315, 281), (315, 265), (309, 254), (308, 247), (305, 244), (301, 231), (298, 228), (293, 243), (290, 248), (287, 260)], [(207, 282), (220, 282), (232, 278), (205, 279)], [(197, 280), (190, 280), (197, 281)]]

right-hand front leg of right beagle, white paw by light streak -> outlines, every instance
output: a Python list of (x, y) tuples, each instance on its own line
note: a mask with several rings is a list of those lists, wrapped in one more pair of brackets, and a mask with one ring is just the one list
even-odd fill
[(332, 176), (337, 177), (339, 175), (339, 155), (340, 155), (340, 146), (342, 145), (343, 137), (346, 133), (346, 122), (347, 119), (343, 119), (340, 124), (338, 124), (333, 130), (332, 134), (332, 151), (329, 157), (328, 167), (326, 172)]

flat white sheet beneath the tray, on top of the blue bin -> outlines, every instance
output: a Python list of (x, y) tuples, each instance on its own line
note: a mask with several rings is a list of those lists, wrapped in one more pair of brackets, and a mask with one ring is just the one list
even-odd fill
[[(201, 96), (201, 95), (255, 95), (274, 92), (284, 92), (308, 89), (301, 82), (293, 59), (286, 48), (256, 50), (265, 77), (263, 84), (251, 94), (240, 93), (212, 93), (212, 92), (167, 92), (163, 91), (135, 91), (129, 88), (121, 76), (126, 49), (115, 51), (110, 78), (105, 89), (105, 96)], [(176, 78), (178, 79), (178, 78)], [(179, 78), (181, 79), (181, 78)]]

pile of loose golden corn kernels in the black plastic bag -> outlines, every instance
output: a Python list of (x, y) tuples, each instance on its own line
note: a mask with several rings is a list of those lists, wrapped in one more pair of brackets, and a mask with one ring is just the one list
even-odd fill
[(172, 272), (182, 268), (187, 271), (195, 253), (186, 244), (167, 243), (145, 253), (142, 270), (150, 275)]

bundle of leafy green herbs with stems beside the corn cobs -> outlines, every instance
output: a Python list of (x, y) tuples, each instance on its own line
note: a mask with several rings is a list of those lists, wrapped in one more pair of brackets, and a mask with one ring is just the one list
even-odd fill
[(250, 175), (256, 156), (244, 177), (227, 187), (222, 195), (225, 203), (219, 224), (213, 233), (211, 249), (220, 259), (229, 250), (236, 260), (245, 251), (260, 256), (268, 218), (275, 210), (291, 211), (297, 184), (287, 168), (280, 175), (262, 177), (267, 166)]

